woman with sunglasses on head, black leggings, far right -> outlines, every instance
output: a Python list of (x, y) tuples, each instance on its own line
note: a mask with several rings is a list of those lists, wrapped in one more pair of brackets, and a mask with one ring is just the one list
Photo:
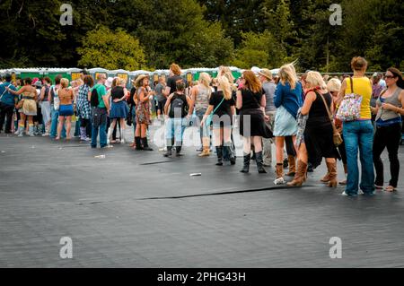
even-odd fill
[(384, 76), (387, 89), (382, 91), (376, 101), (376, 133), (373, 139), (373, 163), (376, 170), (374, 186), (382, 189), (384, 183), (384, 172), (381, 154), (387, 148), (390, 160), (391, 180), (389, 186), (384, 190), (393, 192), (396, 190), (399, 174), (400, 160), (398, 157), (401, 140), (401, 116), (404, 115), (404, 80), (400, 70), (391, 67), (387, 69)]

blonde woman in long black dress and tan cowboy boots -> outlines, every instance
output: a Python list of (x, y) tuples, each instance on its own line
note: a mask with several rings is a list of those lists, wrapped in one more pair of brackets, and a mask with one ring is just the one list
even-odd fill
[(305, 82), (307, 93), (301, 113), (309, 117), (304, 129), (303, 143), (299, 146), (297, 171), (294, 180), (287, 183), (287, 186), (302, 186), (306, 179), (308, 163), (310, 162), (312, 167), (316, 168), (321, 164), (322, 158), (326, 158), (329, 186), (335, 187), (337, 186), (338, 151), (333, 143), (333, 129), (324, 104), (325, 100), (332, 114), (332, 97), (319, 72), (308, 72)]

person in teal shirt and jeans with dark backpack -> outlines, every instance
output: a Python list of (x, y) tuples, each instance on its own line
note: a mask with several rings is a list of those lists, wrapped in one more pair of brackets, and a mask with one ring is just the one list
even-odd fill
[(97, 94), (98, 105), (92, 107), (92, 148), (97, 148), (97, 137), (100, 133), (100, 147), (105, 148), (107, 143), (107, 116), (110, 110), (110, 102), (107, 97), (105, 74), (97, 75), (97, 84), (92, 87), (91, 92)]

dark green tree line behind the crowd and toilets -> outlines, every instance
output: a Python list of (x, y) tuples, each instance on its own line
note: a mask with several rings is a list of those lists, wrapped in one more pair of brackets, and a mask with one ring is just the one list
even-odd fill
[[(340, 26), (329, 23), (335, 2)], [(64, 3), (71, 26), (59, 22)], [(1, 0), (0, 67), (93, 67), (103, 65), (102, 51), (116, 68), (272, 68), (297, 59), (300, 70), (346, 72), (360, 55), (372, 70), (403, 69), (403, 14), (396, 0)], [(91, 37), (101, 31), (110, 34)]]

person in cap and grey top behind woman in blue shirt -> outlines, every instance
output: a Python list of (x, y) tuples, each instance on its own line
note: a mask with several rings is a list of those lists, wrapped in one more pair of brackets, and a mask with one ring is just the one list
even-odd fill
[[(266, 124), (269, 130), (274, 130), (275, 115), (277, 113), (277, 108), (274, 104), (275, 91), (277, 90), (277, 85), (272, 82), (272, 73), (267, 68), (261, 69), (259, 72), (259, 81), (262, 83), (262, 90), (266, 98), (265, 115), (268, 117)], [(263, 160), (264, 166), (270, 167), (272, 163), (272, 139), (263, 138)]]

